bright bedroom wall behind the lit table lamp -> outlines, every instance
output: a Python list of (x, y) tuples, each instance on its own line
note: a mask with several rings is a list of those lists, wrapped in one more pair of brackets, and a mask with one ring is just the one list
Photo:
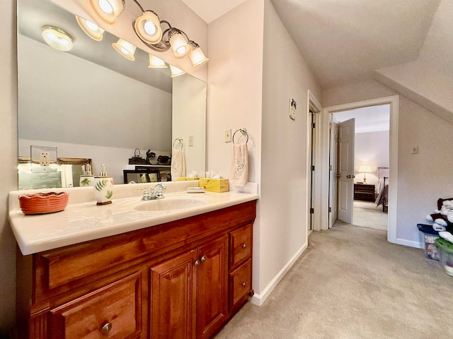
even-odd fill
[(360, 165), (369, 165), (367, 184), (375, 185), (379, 180), (377, 167), (389, 167), (389, 131), (355, 133), (354, 139), (354, 182), (363, 182)]

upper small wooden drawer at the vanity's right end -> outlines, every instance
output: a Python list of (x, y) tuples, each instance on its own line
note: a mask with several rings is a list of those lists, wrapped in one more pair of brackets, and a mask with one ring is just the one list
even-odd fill
[(230, 233), (230, 269), (251, 257), (252, 254), (252, 225), (246, 225)]

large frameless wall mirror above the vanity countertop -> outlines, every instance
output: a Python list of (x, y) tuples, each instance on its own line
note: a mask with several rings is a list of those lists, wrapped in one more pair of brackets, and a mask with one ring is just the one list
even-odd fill
[[(64, 29), (74, 47), (60, 52), (45, 44), (43, 25)], [(91, 39), (74, 13), (51, 1), (18, 0), (18, 157), (30, 157), (32, 146), (56, 147), (59, 159), (90, 159), (93, 174), (108, 164), (117, 184), (136, 165), (160, 167), (165, 181), (170, 167), (159, 155), (171, 157), (178, 139), (187, 171), (203, 174), (206, 84), (187, 73), (172, 78), (169, 68), (148, 68), (149, 54), (140, 47), (129, 61), (113, 49), (117, 40), (109, 32)], [(137, 155), (145, 163), (130, 161)], [(63, 182), (79, 186), (76, 179)]]

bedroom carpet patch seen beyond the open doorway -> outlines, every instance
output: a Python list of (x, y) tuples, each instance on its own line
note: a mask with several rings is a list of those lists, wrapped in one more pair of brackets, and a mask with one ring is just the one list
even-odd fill
[(387, 230), (389, 213), (382, 212), (382, 206), (370, 201), (354, 201), (352, 211), (352, 225)]

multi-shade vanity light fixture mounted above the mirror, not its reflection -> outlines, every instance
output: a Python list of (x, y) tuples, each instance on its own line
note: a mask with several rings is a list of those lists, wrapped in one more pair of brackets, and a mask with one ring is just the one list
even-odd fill
[[(166, 52), (171, 48), (173, 57), (176, 59), (183, 59), (190, 55), (194, 68), (209, 60), (203, 54), (200, 45), (190, 40), (185, 32), (173, 28), (166, 20), (160, 20), (154, 11), (145, 11), (139, 1), (131, 1), (142, 11), (142, 14), (132, 23), (132, 29), (147, 47), (156, 52)], [(90, 4), (98, 18), (110, 25), (116, 23), (117, 16), (125, 9), (125, 0), (90, 0)], [(163, 30), (163, 24), (168, 28)]]

